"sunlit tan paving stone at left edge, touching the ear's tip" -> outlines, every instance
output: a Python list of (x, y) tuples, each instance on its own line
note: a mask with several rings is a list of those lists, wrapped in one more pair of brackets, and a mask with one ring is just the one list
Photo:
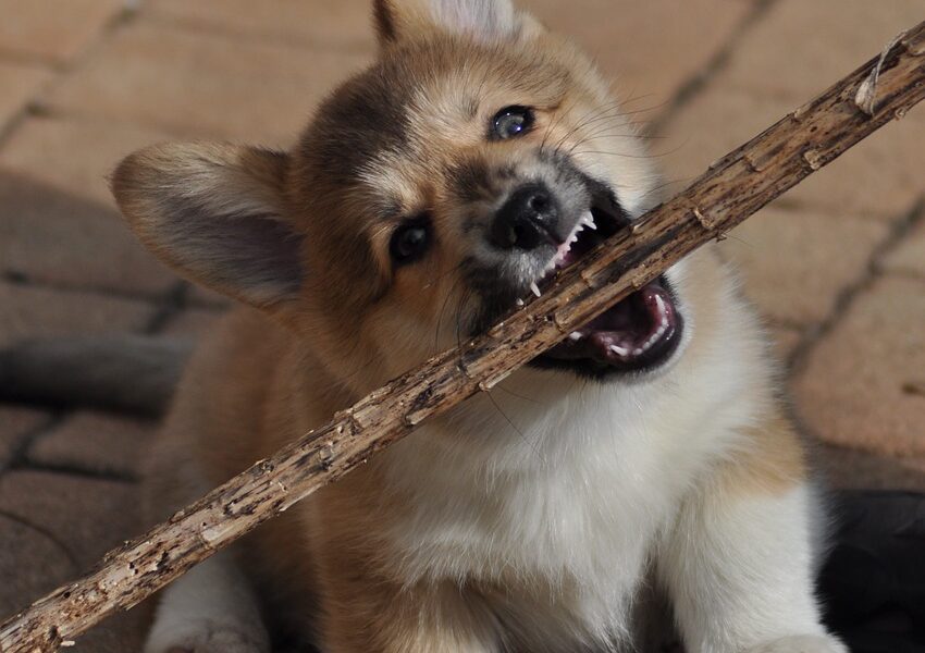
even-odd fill
[(29, 116), (0, 149), (0, 167), (114, 209), (109, 175), (119, 162), (169, 139), (111, 120)]

